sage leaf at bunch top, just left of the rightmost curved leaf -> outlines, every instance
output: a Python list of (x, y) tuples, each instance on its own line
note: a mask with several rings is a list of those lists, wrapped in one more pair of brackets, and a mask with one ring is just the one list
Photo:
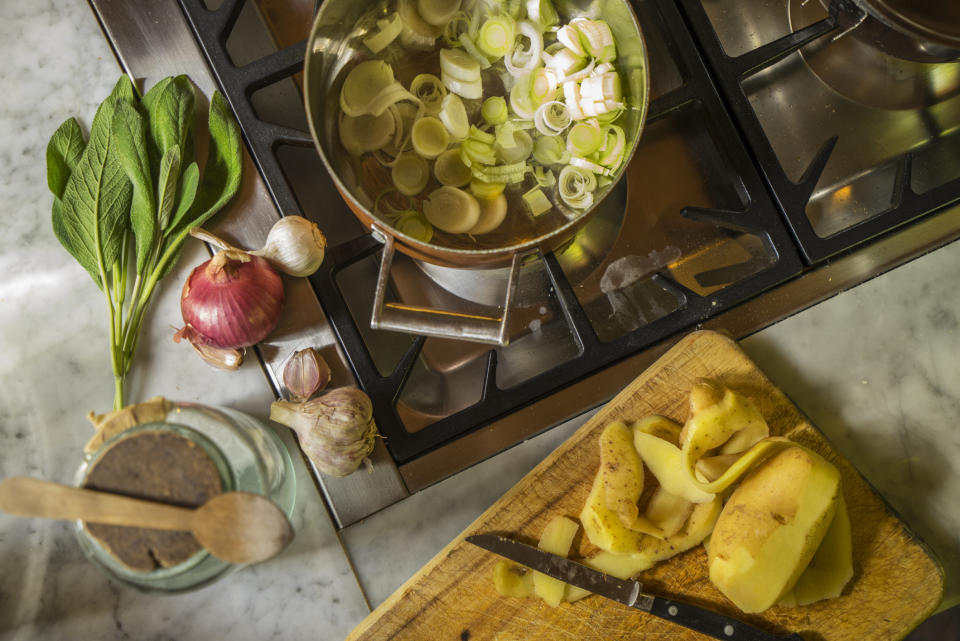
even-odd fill
[[(186, 76), (165, 78), (143, 97), (150, 122), (152, 162), (159, 162), (170, 147), (177, 147), (180, 160), (193, 157), (193, 124), (196, 118), (196, 97), (193, 83)], [(158, 178), (158, 176), (155, 176)]]

